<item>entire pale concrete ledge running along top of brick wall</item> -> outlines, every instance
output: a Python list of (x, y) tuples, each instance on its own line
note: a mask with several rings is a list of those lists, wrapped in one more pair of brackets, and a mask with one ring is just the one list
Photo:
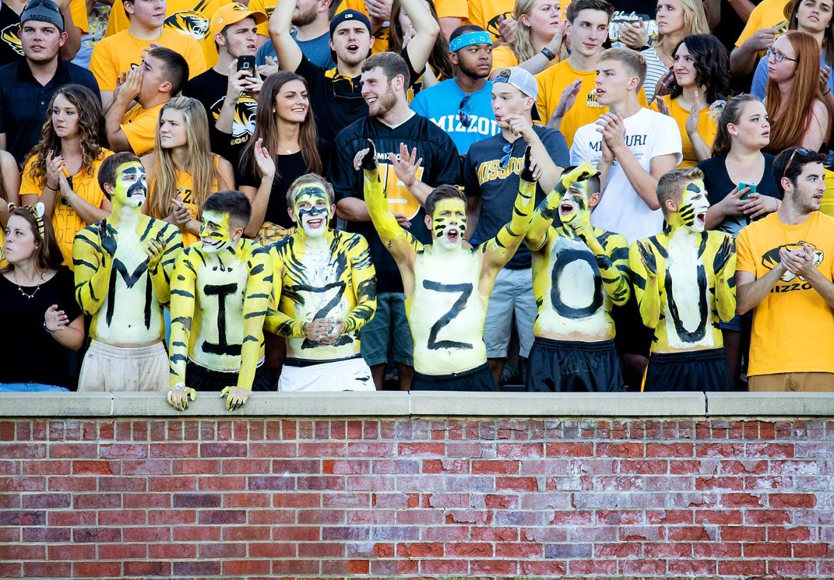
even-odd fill
[(834, 417), (834, 393), (254, 393), (235, 413), (165, 394), (0, 393), (0, 417)]

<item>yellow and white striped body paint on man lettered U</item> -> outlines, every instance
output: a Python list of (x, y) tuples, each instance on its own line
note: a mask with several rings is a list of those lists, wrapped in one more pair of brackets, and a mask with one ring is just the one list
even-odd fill
[(703, 230), (708, 207), (703, 183), (689, 183), (666, 229), (629, 248), (641, 318), (655, 329), (652, 353), (721, 348), (718, 323), (735, 316), (735, 242)]

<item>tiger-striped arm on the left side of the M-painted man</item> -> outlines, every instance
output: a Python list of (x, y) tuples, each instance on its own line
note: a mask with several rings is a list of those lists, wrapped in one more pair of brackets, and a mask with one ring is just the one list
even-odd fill
[(73, 241), (75, 300), (85, 314), (93, 315), (107, 296), (113, 255), (116, 253), (115, 230), (102, 220), (98, 231), (84, 228)]

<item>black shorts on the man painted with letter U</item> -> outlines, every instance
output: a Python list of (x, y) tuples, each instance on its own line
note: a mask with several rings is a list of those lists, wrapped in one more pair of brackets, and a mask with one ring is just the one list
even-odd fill
[(723, 348), (649, 357), (643, 391), (731, 391), (730, 369)]

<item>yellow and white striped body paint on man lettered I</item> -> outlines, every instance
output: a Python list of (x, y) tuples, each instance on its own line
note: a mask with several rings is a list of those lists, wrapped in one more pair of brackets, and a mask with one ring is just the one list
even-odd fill
[[(216, 235), (215, 235), (216, 234)], [(264, 317), (272, 292), (269, 256), (252, 240), (229, 240), (229, 215), (203, 212), (200, 237), (184, 249), (171, 282), (170, 383), (188, 384), (187, 359), (216, 371), (239, 371), (252, 388), (264, 358)]]

